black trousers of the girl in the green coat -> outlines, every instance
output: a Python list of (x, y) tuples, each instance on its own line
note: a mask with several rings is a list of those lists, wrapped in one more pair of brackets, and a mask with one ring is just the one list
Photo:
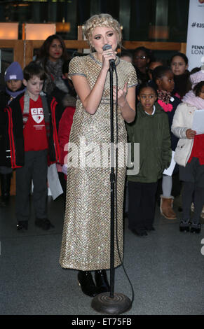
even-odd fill
[(156, 183), (128, 182), (128, 221), (130, 230), (149, 230), (155, 214)]

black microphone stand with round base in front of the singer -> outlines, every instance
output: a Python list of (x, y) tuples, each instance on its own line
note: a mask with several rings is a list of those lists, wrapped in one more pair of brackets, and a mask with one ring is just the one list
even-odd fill
[(111, 237), (110, 237), (110, 292), (100, 293), (96, 295), (92, 302), (91, 307), (102, 314), (122, 314), (128, 311), (131, 307), (130, 299), (122, 293), (114, 293), (114, 231), (115, 231), (115, 182), (116, 176), (114, 172), (114, 98), (113, 98), (113, 72), (116, 70), (114, 62), (110, 62), (109, 75), (110, 75), (110, 125), (111, 125)]

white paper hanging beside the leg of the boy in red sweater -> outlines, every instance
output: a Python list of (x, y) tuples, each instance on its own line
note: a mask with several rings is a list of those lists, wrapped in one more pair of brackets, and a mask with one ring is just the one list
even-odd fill
[(48, 167), (48, 187), (53, 196), (53, 200), (55, 200), (57, 197), (59, 197), (60, 194), (63, 193), (55, 163)]

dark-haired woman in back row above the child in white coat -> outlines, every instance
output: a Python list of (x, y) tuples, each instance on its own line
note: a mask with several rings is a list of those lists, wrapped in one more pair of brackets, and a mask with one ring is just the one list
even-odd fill
[(173, 94), (179, 99), (184, 97), (186, 92), (191, 90), (191, 83), (189, 80), (190, 73), (188, 71), (189, 59), (182, 52), (177, 52), (170, 59), (170, 67), (174, 73), (175, 89)]

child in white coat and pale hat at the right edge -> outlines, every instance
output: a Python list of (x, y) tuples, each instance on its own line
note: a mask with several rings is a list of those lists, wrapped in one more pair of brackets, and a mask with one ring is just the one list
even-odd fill
[[(203, 80), (200, 81), (202, 78)], [(193, 90), (184, 96), (183, 103), (177, 107), (172, 122), (172, 132), (179, 137), (175, 162), (179, 165), (180, 180), (184, 181), (183, 218), (179, 230), (200, 233), (200, 214), (204, 200), (204, 134), (196, 134), (191, 128), (195, 111), (204, 109), (204, 73), (199, 71), (192, 74), (191, 82)], [(192, 200), (194, 213), (191, 223)]]

